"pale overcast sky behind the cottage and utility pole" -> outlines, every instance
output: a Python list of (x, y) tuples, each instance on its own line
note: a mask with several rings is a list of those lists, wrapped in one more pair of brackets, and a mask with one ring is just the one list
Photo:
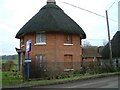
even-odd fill
[[(108, 10), (111, 39), (118, 31), (118, 1), (119, 0), (56, 0), (56, 4), (64, 10), (86, 33), (93, 46), (101, 46), (108, 41), (106, 18), (81, 10), (80, 8), (105, 16)], [(19, 39), (16, 33), (31, 19), (47, 0), (0, 0), (0, 55), (17, 54)]]

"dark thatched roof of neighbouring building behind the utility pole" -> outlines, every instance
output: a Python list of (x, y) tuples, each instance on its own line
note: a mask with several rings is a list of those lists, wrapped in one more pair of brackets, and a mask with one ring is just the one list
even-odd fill
[[(112, 57), (117, 58), (120, 57), (120, 31), (117, 31), (111, 40), (112, 46)], [(103, 48), (101, 51), (101, 55), (103, 58), (109, 58), (109, 43)]]

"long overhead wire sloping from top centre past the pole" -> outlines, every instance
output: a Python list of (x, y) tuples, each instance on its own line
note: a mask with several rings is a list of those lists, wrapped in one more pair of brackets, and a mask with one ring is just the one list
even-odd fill
[[(92, 14), (97, 15), (97, 16), (99, 16), (99, 17), (106, 18), (105, 16), (100, 15), (100, 14), (98, 14), (98, 13), (96, 13), (96, 12), (92, 12), (92, 11), (90, 11), (90, 10), (81, 8), (81, 7), (79, 7), (79, 6), (76, 6), (76, 5), (73, 5), (73, 4), (70, 4), (70, 3), (67, 3), (67, 2), (61, 1), (61, 0), (58, 0), (58, 1), (60, 1), (60, 2), (62, 2), (62, 3), (64, 3), (64, 4), (67, 4), (67, 5), (70, 5), (70, 6), (72, 6), (72, 7), (79, 8), (79, 9), (81, 9), (81, 10), (83, 10), (83, 11), (92, 13)], [(110, 19), (110, 18), (109, 18), (109, 19)], [(118, 21), (116, 21), (116, 20), (114, 20), (114, 19), (110, 19), (110, 20), (113, 21), (113, 22), (118, 22)]]

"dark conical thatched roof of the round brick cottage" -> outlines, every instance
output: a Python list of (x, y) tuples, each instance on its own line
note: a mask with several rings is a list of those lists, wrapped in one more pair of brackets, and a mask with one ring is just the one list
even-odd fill
[(16, 38), (28, 33), (65, 32), (79, 34), (82, 39), (86, 38), (83, 29), (55, 3), (47, 3), (33, 16), (16, 34)]

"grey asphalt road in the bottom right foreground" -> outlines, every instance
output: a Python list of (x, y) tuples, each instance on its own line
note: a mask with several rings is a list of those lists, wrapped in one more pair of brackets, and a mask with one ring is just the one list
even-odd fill
[(34, 88), (118, 88), (119, 86), (120, 76), (118, 78), (118, 75), (116, 75), (89, 80), (78, 80), (64, 84), (38, 86)]

